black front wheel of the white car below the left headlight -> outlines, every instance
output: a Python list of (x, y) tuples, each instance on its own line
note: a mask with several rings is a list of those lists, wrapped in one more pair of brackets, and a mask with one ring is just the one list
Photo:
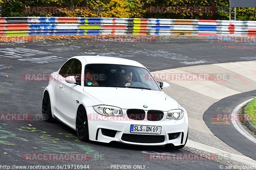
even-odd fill
[(76, 135), (79, 140), (89, 142), (88, 119), (85, 108), (79, 107), (76, 114)]

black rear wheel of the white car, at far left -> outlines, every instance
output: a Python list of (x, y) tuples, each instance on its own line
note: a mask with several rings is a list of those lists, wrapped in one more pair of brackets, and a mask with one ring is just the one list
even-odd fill
[(45, 122), (52, 122), (54, 118), (52, 117), (51, 110), (51, 100), (49, 93), (47, 91), (44, 92), (43, 102), (42, 102), (42, 115), (43, 120)]

